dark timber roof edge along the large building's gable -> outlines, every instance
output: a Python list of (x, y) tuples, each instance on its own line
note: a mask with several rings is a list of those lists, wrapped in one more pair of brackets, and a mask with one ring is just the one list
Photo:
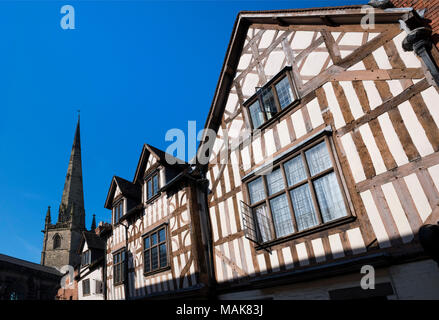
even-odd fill
[[(247, 32), (252, 24), (278, 25), (327, 25), (360, 24), (365, 16), (363, 5), (323, 7), (310, 9), (285, 9), (266, 11), (241, 11), (236, 17), (232, 35), (227, 47), (221, 73), (215, 89), (213, 101), (204, 125), (205, 129), (218, 131), (227, 102), (227, 97), (235, 78)], [(375, 23), (398, 23), (402, 15), (411, 8), (374, 9)], [(202, 145), (206, 140), (206, 130), (197, 154), (205, 152)], [(208, 141), (206, 141), (208, 143)], [(198, 169), (206, 169), (206, 164), (198, 164)]]

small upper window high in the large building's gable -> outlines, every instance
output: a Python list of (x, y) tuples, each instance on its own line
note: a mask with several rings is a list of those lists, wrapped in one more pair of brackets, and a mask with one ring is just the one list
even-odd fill
[(253, 129), (261, 127), (297, 101), (294, 84), (288, 72), (290, 69), (284, 68), (245, 103)]

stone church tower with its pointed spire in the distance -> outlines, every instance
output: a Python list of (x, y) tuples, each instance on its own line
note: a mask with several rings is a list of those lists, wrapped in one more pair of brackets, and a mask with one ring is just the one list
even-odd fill
[(50, 214), (49, 207), (43, 230), (41, 264), (52, 267), (75, 266), (80, 262), (77, 249), (82, 231), (86, 230), (79, 118), (56, 224), (51, 223)]

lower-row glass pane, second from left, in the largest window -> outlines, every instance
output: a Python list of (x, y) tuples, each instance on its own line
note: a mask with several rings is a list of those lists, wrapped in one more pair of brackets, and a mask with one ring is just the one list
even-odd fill
[(293, 220), (288, 207), (287, 195), (284, 193), (270, 200), (271, 214), (277, 237), (283, 237), (294, 232)]

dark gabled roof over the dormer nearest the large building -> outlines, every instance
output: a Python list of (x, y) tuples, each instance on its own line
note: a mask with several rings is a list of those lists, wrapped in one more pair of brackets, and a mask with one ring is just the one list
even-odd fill
[[(146, 164), (148, 163), (148, 158), (151, 154), (156, 157), (157, 161), (159, 161), (165, 167), (172, 166), (181, 169), (189, 167), (189, 164), (187, 162), (145, 143), (143, 145), (142, 153), (140, 154), (139, 162), (137, 163), (136, 173), (134, 174), (133, 182), (135, 184), (142, 180), (143, 173), (146, 169)], [(168, 161), (173, 164), (170, 164)]]

